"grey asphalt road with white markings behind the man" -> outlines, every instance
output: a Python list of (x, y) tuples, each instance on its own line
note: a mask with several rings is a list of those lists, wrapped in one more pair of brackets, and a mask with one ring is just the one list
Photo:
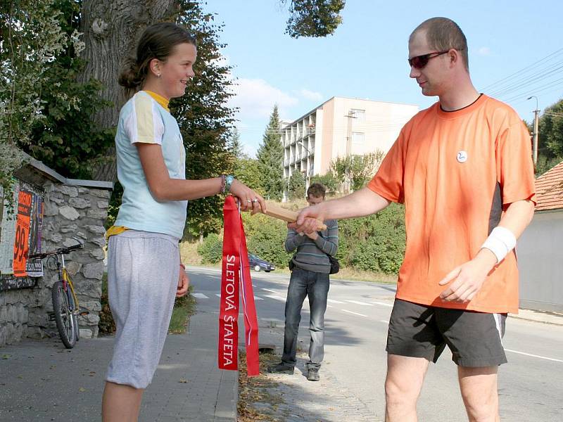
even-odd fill
[[(191, 268), (189, 274), (198, 307), (218, 309), (220, 271)], [(252, 277), (259, 319), (283, 326), (289, 276), (253, 271)], [(385, 342), (394, 293), (391, 285), (333, 280), (325, 318), (324, 364), (337, 380), (334, 388), (353, 392), (378, 415), (384, 409)], [(307, 350), (307, 300), (302, 315), (300, 336)], [(509, 318), (503, 343), (509, 363), (499, 372), (502, 421), (562, 421), (563, 326)], [(418, 411), (419, 421), (467, 421), (447, 350), (429, 368)]]

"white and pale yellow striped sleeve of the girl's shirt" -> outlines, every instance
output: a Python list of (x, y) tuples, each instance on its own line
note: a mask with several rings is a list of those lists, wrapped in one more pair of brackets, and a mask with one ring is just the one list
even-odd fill
[(147, 95), (133, 98), (132, 113), (125, 119), (125, 132), (131, 143), (158, 143), (162, 145), (163, 118), (156, 109), (156, 102)]

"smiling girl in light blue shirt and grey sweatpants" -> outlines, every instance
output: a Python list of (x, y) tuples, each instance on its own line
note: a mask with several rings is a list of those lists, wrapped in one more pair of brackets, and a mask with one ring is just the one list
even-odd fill
[(117, 326), (102, 399), (103, 422), (137, 421), (141, 397), (160, 360), (175, 296), (189, 280), (178, 242), (187, 201), (232, 193), (241, 210), (265, 210), (262, 197), (232, 176), (186, 180), (186, 153), (168, 109), (194, 77), (196, 40), (182, 27), (158, 23), (139, 40), (119, 82), (135, 92), (115, 135), (122, 205), (108, 229), (108, 293)]

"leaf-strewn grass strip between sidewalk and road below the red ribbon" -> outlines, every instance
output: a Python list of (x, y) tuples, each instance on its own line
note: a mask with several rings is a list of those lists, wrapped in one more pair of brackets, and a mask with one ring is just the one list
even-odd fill
[(275, 353), (260, 353), (260, 375), (249, 378), (246, 352), (239, 352), (239, 402), (236, 404), (238, 422), (281, 421), (270, 414), (268, 407), (260, 406), (268, 404), (272, 411), (276, 411), (279, 404), (284, 402), (281, 394), (275, 390), (279, 383), (266, 375), (267, 367), (278, 362), (279, 356)]

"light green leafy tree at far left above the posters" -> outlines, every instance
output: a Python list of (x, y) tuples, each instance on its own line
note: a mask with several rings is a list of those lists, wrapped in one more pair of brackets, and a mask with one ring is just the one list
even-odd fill
[[(44, 77), (53, 58), (77, 43), (61, 28), (55, 0), (0, 3), (0, 187), (11, 190), (13, 172), (32, 143), (32, 129), (44, 120)], [(11, 198), (11, 196), (7, 196)]]

